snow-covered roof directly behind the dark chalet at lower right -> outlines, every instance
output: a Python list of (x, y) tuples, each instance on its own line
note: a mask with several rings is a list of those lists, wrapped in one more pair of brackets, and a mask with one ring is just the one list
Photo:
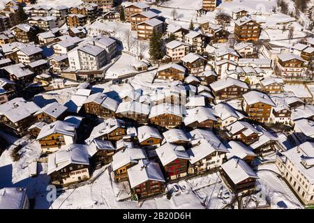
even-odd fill
[(251, 147), (244, 145), (241, 141), (229, 141), (228, 149), (230, 151), (230, 153), (227, 153), (228, 159), (234, 157), (244, 159), (247, 156), (257, 156)]

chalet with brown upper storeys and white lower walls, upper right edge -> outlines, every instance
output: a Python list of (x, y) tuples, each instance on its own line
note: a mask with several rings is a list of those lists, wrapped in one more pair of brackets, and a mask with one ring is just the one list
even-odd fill
[(295, 54), (279, 54), (278, 68), (281, 70), (281, 77), (292, 78), (302, 77), (306, 61)]

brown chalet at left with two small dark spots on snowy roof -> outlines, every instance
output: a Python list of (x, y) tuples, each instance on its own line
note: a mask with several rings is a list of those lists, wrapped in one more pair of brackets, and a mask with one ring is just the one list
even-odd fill
[(68, 107), (61, 105), (58, 102), (52, 102), (39, 109), (34, 116), (36, 116), (38, 121), (43, 121), (49, 124), (57, 120), (63, 120), (63, 118), (66, 117), (67, 109)]

